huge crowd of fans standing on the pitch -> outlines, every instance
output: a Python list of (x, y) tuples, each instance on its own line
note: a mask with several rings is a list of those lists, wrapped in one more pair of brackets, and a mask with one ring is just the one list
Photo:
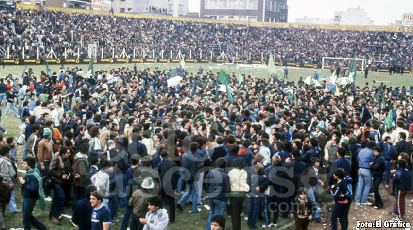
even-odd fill
[[(223, 78), (233, 99), (217, 89)], [(0, 196), (3, 213), (7, 203), (23, 210), (25, 230), (49, 228), (32, 216), (37, 199), (41, 210), (52, 202), (50, 223), (60, 225), (65, 209), (81, 230), (109, 229), (119, 207), (126, 210), (116, 229), (166, 229), (187, 203), (190, 213), (208, 205), (207, 230), (224, 228), (225, 210), (233, 230), (243, 210), (252, 229), (260, 216), (260, 227), (291, 217), (306, 229), (320, 222), (321, 188), (334, 197), (332, 229), (339, 218), (346, 230), (352, 201), (383, 208), (380, 185), (396, 195), (390, 214), (404, 217), (412, 87), (348, 85), (333, 96), (301, 80), (237, 81), (223, 72), (184, 72), (168, 87), (168, 71), (126, 67), (90, 77), (76, 67), (51, 76), (25, 69), (20, 80), (0, 79), (0, 105), (16, 105), (21, 122), (17, 142), (0, 136)], [(17, 178), (19, 162), (26, 173)]]

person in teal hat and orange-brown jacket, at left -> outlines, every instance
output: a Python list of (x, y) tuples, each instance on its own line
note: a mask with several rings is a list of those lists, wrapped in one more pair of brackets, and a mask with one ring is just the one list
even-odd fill
[[(39, 161), (40, 174), (43, 177), (49, 176), (49, 165), (50, 161), (53, 159), (52, 154), (52, 130), (50, 128), (43, 129), (43, 139), (39, 142), (37, 146), (37, 160)], [(45, 200), (52, 201), (50, 197), (50, 189), (45, 187), (44, 189)]]

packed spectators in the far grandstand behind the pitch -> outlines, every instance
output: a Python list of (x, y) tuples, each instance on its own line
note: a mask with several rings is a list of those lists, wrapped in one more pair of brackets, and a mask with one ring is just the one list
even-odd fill
[[(175, 58), (181, 51), (188, 58), (191, 51), (192, 58), (200, 58), (202, 51), (203, 57), (209, 58), (208, 45), (223, 44), (238, 52), (240, 59), (244, 53), (244, 59), (261, 60), (263, 52), (266, 60), (271, 52), (275, 61), (321, 64), (323, 57), (356, 55), (365, 59), (371, 70), (412, 69), (412, 33), (264, 28), (23, 9), (2, 12), (0, 28), (0, 45), (10, 47), (12, 58), (21, 58), (23, 46), (26, 58), (36, 58), (37, 48), (40, 58), (51, 48), (63, 58), (65, 47), (68, 57), (77, 57), (79, 49), (84, 58), (87, 45), (93, 42), (105, 45), (105, 58), (112, 57), (112, 48), (116, 54), (125, 48), (130, 56), (136, 49), (140, 58), (160, 58), (162, 50), (164, 57), (170, 57), (172, 51)], [(100, 52), (99, 48), (98, 56)], [(388, 56), (383, 62), (374, 62), (375, 54)]]

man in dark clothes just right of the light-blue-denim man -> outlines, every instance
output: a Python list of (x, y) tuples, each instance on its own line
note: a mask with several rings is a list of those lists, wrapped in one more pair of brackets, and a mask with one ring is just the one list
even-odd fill
[(373, 192), (374, 192), (374, 204), (371, 206), (375, 209), (383, 208), (383, 202), (379, 194), (379, 185), (383, 179), (384, 174), (384, 158), (381, 155), (381, 148), (376, 146), (373, 148), (374, 161), (370, 162), (371, 173), (373, 175)]

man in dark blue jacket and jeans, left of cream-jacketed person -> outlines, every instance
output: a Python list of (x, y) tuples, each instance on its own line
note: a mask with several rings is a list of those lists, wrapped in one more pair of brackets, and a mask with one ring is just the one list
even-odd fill
[(229, 177), (225, 172), (226, 159), (218, 158), (216, 161), (217, 168), (208, 173), (209, 183), (207, 191), (209, 196), (209, 217), (206, 224), (206, 230), (211, 230), (211, 218), (213, 215), (222, 215), (225, 211), (226, 197), (225, 193), (230, 192)]

